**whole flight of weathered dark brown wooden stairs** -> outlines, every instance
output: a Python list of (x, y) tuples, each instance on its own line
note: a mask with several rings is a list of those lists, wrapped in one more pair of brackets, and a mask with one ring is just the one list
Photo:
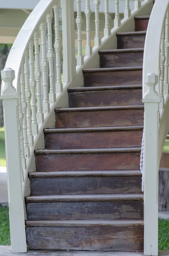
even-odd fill
[(69, 108), (55, 109), (36, 150), (26, 198), (32, 250), (143, 250), (140, 151), (142, 64), (149, 16), (135, 32), (117, 33), (117, 49), (99, 52), (100, 68), (83, 70), (69, 88)]

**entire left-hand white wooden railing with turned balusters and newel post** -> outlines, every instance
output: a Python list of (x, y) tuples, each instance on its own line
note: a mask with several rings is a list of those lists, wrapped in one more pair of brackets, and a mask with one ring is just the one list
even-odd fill
[[(86, 0), (84, 21), (81, 1), (77, 0), (76, 65), (74, 0), (61, 0), (62, 29), (59, 2), (40, 0), (20, 30), (2, 71), (11, 251), (16, 253), (27, 250), (24, 197), (30, 193), (28, 173), (36, 170), (34, 150), (44, 148), (43, 129), (54, 128), (54, 108), (68, 107), (67, 88), (83, 86), (84, 67), (99, 67), (98, 50), (116, 49), (116, 32), (134, 31), (134, 15), (148, 15), (152, 9), (152, 0), (145, 0), (142, 4), (140, 0), (135, 0), (133, 10), (129, 8), (130, 0), (126, 0), (124, 19), (121, 20), (120, 0), (115, 0), (115, 26), (112, 28), (109, 0), (104, 0), (105, 28), (101, 38), (100, 0)], [(91, 6), (95, 8), (93, 48), (90, 37)], [(86, 22), (85, 56), (82, 54), (82, 22)]]

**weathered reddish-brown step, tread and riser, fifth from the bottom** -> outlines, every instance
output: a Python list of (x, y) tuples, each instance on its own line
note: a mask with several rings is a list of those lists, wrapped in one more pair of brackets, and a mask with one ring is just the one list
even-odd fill
[(140, 147), (143, 125), (45, 129), (46, 149)]

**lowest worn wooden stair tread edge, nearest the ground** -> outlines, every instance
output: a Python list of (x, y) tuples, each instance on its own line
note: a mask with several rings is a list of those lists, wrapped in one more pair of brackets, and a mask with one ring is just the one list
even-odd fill
[(27, 227), (87, 227), (87, 226), (118, 226), (138, 227), (143, 226), (143, 220), (64, 220), (64, 221), (26, 221)]

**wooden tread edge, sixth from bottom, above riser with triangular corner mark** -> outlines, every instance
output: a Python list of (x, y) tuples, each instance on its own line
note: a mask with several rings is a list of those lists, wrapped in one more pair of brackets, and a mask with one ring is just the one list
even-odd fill
[(110, 107), (86, 107), (86, 108), (55, 108), (55, 113), (82, 112), (82, 111), (107, 111), (107, 110), (131, 110), (144, 109), (144, 105), (110, 106)]

